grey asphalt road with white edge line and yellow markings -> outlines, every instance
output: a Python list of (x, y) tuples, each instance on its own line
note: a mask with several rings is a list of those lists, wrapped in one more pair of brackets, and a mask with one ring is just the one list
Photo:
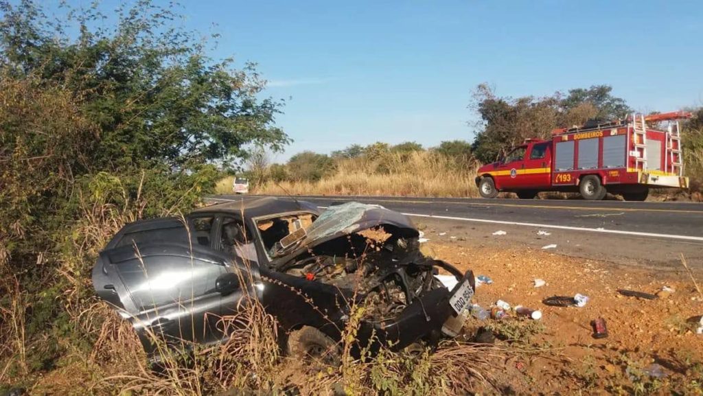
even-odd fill
[[(220, 202), (238, 196), (217, 196)], [(349, 200), (403, 212), (436, 239), (451, 236), (487, 248), (509, 244), (617, 264), (681, 268), (679, 255), (703, 268), (703, 204), (615, 200), (296, 196), (320, 207)], [(434, 231), (437, 231), (436, 233)], [(494, 236), (495, 231), (505, 231)], [(538, 235), (539, 231), (543, 231)], [(446, 233), (441, 235), (441, 233)], [(544, 235), (544, 233), (550, 235)]]

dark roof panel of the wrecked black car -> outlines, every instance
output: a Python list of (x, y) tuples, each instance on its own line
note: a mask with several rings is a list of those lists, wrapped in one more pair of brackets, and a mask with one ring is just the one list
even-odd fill
[(319, 212), (315, 205), (295, 198), (246, 196), (228, 198), (226, 203), (218, 203), (193, 210), (202, 212), (234, 212), (246, 213), (248, 217), (260, 217), (285, 212)]

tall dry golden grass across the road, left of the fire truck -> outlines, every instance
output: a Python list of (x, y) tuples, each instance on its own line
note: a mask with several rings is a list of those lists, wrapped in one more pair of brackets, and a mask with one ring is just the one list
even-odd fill
[(475, 197), (476, 167), (462, 167), (439, 153), (387, 153), (382, 158), (340, 160), (334, 174), (320, 181), (269, 182), (263, 194), (351, 196)]

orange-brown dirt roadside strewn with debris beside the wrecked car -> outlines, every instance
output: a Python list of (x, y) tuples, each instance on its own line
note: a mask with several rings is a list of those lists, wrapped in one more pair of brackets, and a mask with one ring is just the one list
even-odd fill
[[(683, 265), (659, 272), (529, 247), (486, 249), (480, 241), (452, 238), (450, 233), (440, 236), (432, 228), (424, 232), (430, 239), (423, 244), (426, 254), (493, 280), (477, 288), (479, 305), (490, 309), (501, 299), (543, 312), (540, 323), (515, 317), (467, 323), (469, 328), (488, 325), (517, 338), (499, 340), (498, 345), (524, 348), (519, 357), (505, 362), (504, 371), (513, 377), (503, 378), (509, 383), (505, 393), (703, 394), (703, 335), (695, 333), (703, 295)], [(694, 277), (703, 283), (703, 274)], [(535, 288), (534, 279), (543, 279), (546, 285)], [(664, 286), (675, 291), (659, 293), (656, 300), (617, 292), (657, 293)], [(542, 302), (576, 293), (588, 296), (585, 307), (550, 307)], [(591, 321), (598, 317), (606, 321), (607, 338), (592, 336)]]

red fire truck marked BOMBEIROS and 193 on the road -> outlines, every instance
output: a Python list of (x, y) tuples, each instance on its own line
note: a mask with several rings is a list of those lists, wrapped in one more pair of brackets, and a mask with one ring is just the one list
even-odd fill
[(678, 120), (691, 116), (682, 111), (633, 114), (555, 129), (552, 139), (528, 139), (480, 167), (476, 185), (484, 198), (509, 191), (523, 199), (540, 191), (578, 191), (588, 200), (601, 200), (606, 193), (645, 200), (650, 187), (687, 189)]

